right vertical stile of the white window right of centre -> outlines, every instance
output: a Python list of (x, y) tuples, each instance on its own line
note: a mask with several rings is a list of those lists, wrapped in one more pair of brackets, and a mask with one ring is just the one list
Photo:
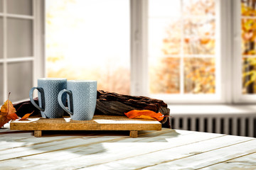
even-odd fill
[(216, 46), (215, 46), (215, 84), (216, 94), (223, 103), (232, 103), (233, 59), (232, 59), (232, 6), (231, 1), (215, 0)]

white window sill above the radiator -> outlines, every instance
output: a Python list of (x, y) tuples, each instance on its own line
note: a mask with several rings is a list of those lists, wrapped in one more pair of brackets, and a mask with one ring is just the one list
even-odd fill
[(255, 115), (256, 105), (169, 105), (170, 115)]

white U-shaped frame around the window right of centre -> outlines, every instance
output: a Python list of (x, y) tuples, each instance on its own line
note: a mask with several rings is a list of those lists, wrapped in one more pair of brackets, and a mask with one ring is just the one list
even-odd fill
[[(216, 91), (218, 94), (184, 94), (184, 95), (150, 95), (149, 94), (149, 74), (148, 74), (148, 61), (147, 61), (147, 21), (148, 21), (148, 1), (136, 1), (131, 0), (131, 15), (132, 15), (132, 94), (133, 95), (144, 95), (153, 98), (161, 98), (166, 103), (232, 103), (232, 93), (230, 85), (232, 79), (230, 79), (232, 68), (230, 51), (232, 46), (230, 45), (230, 13), (232, 8), (230, 6), (232, 0), (221, 1), (216, 0), (216, 40), (220, 40), (220, 44), (225, 44), (225, 47), (218, 45), (216, 46), (215, 55), (216, 63), (220, 62), (220, 58), (225, 56), (225, 60), (221, 60), (221, 64), (216, 64), (217, 77)], [(137, 17), (135, 17), (137, 16)], [(221, 17), (220, 17), (221, 16)], [(220, 31), (221, 30), (221, 31)], [(219, 43), (216, 43), (219, 44)], [(141, 69), (138, 69), (141, 68)], [(225, 71), (225, 74), (220, 74)], [(141, 74), (138, 74), (141, 73)]]

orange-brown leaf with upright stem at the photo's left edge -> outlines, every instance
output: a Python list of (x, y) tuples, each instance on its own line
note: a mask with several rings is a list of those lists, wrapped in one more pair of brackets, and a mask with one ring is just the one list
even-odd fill
[[(9, 96), (10, 94), (11, 93), (9, 93)], [(1, 109), (0, 109), (0, 128), (4, 124), (8, 123), (10, 120), (18, 119), (18, 115), (16, 115), (16, 109), (14, 108), (11, 101), (9, 101), (9, 96), (8, 96), (8, 100), (4, 102), (4, 105), (1, 106)]]

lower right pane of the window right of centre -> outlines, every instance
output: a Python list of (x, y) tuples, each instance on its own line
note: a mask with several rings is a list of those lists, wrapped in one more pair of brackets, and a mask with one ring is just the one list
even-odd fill
[(215, 59), (184, 58), (184, 89), (186, 94), (214, 94)]

